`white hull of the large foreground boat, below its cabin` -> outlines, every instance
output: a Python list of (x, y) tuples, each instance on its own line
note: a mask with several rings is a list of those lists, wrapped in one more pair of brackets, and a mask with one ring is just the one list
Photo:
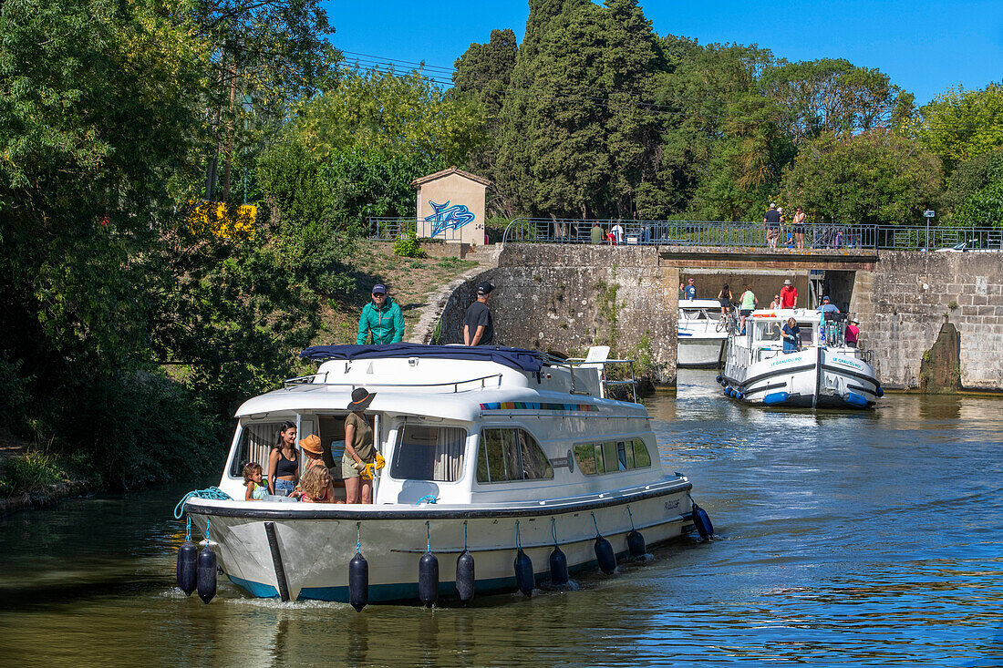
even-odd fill
[(597, 527), (618, 556), (627, 554), (632, 526), (648, 546), (664, 543), (692, 528), (690, 487), (681, 478), (591, 502), (545, 502), (539, 510), (390, 505), (305, 510), (300, 504), (199, 498), (190, 499), (187, 510), (199, 532), (205, 534), (208, 523), (224, 574), (252, 596), (281, 598), (285, 589), (292, 600), (348, 602), (348, 563), (359, 542), (369, 566), (369, 600), (391, 602), (417, 599), (418, 560), (429, 548), (438, 559), (439, 595), (450, 597), (464, 547), (473, 555), (481, 595), (516, 589), (518, 546), (532, 560), (537, 583), (547, 580), (555, 535), (572, 571), (595, 566)]

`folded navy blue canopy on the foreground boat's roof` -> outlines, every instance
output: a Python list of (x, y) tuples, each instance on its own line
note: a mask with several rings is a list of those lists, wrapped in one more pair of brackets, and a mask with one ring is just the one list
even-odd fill
[(426, 346), (421, 343), (386, 343), (373, 346), (311, 346), (304, 359), (375, 359), (379, 357), (434, 357), (437, 359), (489, 360), (518, 371), (540, 371), (544, 360), (535, 350), (503, 346)]

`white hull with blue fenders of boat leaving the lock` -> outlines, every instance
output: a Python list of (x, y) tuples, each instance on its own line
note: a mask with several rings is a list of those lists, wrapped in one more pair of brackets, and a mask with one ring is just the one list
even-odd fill
[(874, 369), (847, 350), (810, 347), (753, 362), (730, 359), (725, 393), (759, 406), (866, 409), (884, 392)]

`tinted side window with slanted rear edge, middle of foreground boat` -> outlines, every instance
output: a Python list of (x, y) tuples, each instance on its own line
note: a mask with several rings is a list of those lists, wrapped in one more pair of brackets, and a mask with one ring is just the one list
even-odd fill
[(482, 429), (477, 447), (477, 482), (554, 477), (540, 443), (526, 429)]

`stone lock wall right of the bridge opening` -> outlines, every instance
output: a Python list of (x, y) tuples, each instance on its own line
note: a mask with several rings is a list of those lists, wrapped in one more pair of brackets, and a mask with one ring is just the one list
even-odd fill
[(949, 322), (962, 387), (1003, 389), (1003, 255), (882, 252), (874, 271), (857, 272), (851, 311), (886, 386), (921, 386), (924, 356)]

